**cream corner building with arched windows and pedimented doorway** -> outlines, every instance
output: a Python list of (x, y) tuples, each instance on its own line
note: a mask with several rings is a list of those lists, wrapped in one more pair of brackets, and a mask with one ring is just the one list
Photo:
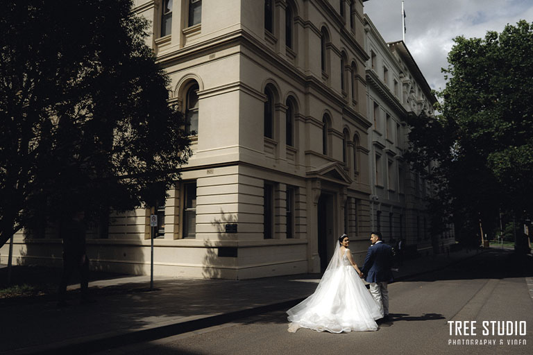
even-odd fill
[[(376, 89), (382, 84), (366, 63), (371, 49), (387, 46), (365, 44), (364, 1), (135, 0), (133, 11), (153, 24), (147, 41), (169, 73), (169, 104), (185, 114), (193, 150), (169, 198), (155, 207), (155, 275), (321, 272), (344, 232), (361, 263), (380, 223), (375, 211), (398, 220), (403, 213), (411, 233), (417, 207), (405, 207), (406, 194), (375, 203), (389, 191), (374, 182), (375, 157), (385, 167), (389, 155), (394, 168), (403, 165), (402, 146), (373, 123), (373, 100), (383, 107), (379, 124), (391, 112), (400, 134), (411, 101), (389, 107)], [(390, 78), (397, 73), (404, 90), (400, 73), (415, 71), (402, 69), (404, 53), (394, 59), (391, 49), (384, 57)], [(137, 209), (90, 226), (92, 266), (149, 273), (150, 214)], [(60, 265), (61, 241), (48, 232), (45, 239), (17, 234), (17, 262)]]

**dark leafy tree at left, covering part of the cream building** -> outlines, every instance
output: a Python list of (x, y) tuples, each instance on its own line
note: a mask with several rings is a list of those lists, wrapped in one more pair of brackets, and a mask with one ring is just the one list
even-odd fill
[(2, 1), (0, 245), (76, 210), (153, 205), (190, 155), (130, 0)]

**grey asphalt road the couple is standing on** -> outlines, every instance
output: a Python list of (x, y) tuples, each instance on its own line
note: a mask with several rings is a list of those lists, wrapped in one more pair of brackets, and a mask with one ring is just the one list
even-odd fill
[[(394, 319), (378, 331), (330, 334), (299, 329), (291, 334), (285, 311), (277, 311), (101, 354), (533, 354), (531, 257), (514, 257), (505, 250), (483, 253), (390, 284), (389, 295)], [(454, 327), (450, 335), (448, 321), (461, 325), (461, 335)], [(487, 336), (482, 334), (484, 321)], [(497, 324), (506, 328), (507, 321), (513, 327), (515, 321), (525, 322), (525, 335), (498, 335)], [(476, 329), (465, 334), (465, 325), (472, 324)], [(510, 330), (503, 328), (505, 333)]]

